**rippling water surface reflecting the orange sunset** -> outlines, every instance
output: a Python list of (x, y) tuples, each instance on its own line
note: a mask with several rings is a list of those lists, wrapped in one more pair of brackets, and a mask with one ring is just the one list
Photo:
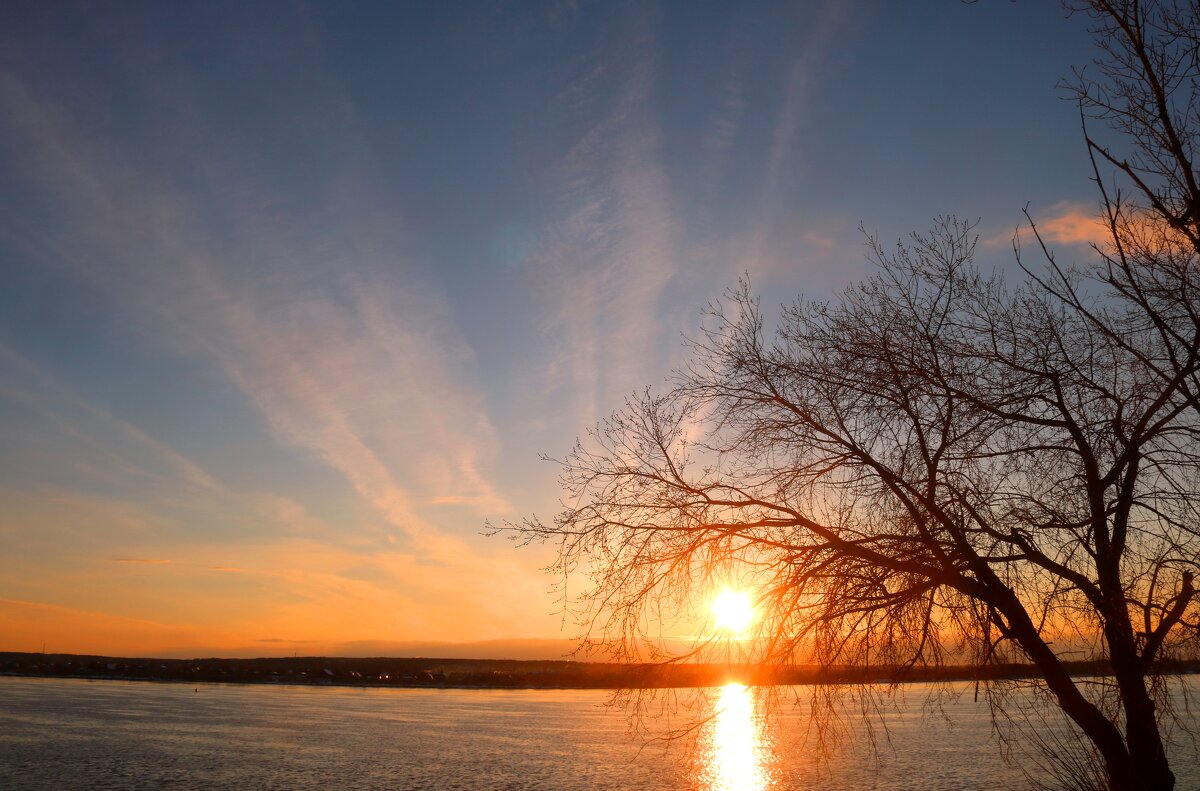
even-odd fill
[[(647, 715), (593, 690), (358, 689), (0, 678), (2, 789), (545, 789), (823, 791), (1021, 789), (964, 695), (930, 712), (913, 688), (824, 759), (805, 706), (770, 707), (731, 685), (682, 693), (689, 711)], [(800, 695), (808, 691), (799, 690)], [(661, 699), (647, 709), (658, 712)], [(706, 719), (707, 718), (707, 719)], [(672, 725), (691, 736), (646, 744)], [(862, 730), (859, 718), (850, 718)], [(1193, 745), (1174, 748), (1182, 790), (1200, 789)]]

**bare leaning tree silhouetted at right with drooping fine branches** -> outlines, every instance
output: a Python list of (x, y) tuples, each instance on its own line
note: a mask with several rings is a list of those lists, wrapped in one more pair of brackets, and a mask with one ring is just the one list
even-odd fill
[[(1200, 10), (1079, 10), (1103, 49), (1073, 84), (1094, 262), (1043, 245), (1008, 284), (943, 218), (872, 240), (876, 274), (836, 301), (768, 323), (743, 283), (712, 305), (672, 386), (562, 462), (566, 509), (514, 526), (588, 580), (593, 635), (658, 646), (656, 613), (737, 574), (760, 592), (749, 659), (1027, 661), (1111, 789), (1174, 787), (1163, 661), (1200, 621)], [(1072, 677), (1081, 657), (1099, 683)]]

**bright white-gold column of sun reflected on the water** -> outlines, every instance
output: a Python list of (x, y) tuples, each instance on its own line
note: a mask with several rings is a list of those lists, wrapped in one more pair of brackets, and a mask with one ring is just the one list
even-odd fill
[(754, 694), (744, 685), (721, 688), (706, 741), (703, 791), (763, 791), (769, 787), (763, 735), (754, 709)]

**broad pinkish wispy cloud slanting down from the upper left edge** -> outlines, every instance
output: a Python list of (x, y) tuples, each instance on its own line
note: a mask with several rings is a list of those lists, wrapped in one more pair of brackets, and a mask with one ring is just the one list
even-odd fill
[[(281, 443), (341, 472), (401, 531), (432, 529), (420, 510), (433, 501), (510, 510), (488, 478), (498, 441), (472, 352), (445, 296), (396, 252), (394, 232), (368, 228), (359, 239), (361, 206), (340, 199), (317, 209), (320, 232), (281, 215), (280, 197), (241, 174), (236, 160), (248, 152), (198, 146), (179, 167), (202, 168), (209, 190), (175, 190), (8, 73), (0, 103), (7, 142), (26, 151), (34, 180), (82, 240), (42, 251), (55, 265), (142, 311), (186, 353), (215, 360)], [(358, 143), (334, 137), (331, 158)], [(364, 182), (342, 191), (370, 196), (370, 176), (350, 160), (341, 178)], [(221, 242), (208, 228), (214, 212), (230, 229)], [(355, 239), (354, 248), (338, 239)]]

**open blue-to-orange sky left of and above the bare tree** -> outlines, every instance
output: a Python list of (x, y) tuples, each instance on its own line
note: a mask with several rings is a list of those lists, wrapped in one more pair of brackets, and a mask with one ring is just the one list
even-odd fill
[(540, 455), (863, 229), (1085, 256), (1093, 56), (1044, 0), (2, 4), (0, 651), (571, 639), (484, 534)]

